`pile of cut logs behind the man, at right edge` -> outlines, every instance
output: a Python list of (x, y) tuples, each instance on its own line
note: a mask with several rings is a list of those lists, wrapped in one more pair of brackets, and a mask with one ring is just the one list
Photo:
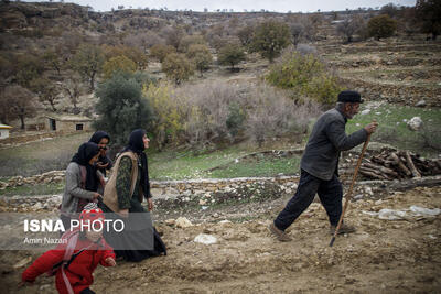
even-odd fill
[(441, 174), (440, 160), (427, 160), (409, 151), (384, 149), (366, 159), (359, 173), (373, 179), (404, 179)]

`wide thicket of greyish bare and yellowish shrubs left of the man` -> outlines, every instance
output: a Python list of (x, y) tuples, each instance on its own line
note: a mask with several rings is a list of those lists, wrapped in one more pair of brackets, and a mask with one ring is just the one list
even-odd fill
[(251, 139), (259, 144), (272, 138), (301, 141), (314, 102), (298, 106), (288, 95), (270, 86), (226, 81), (171, 85), (144, 89), (154, 120), (152, 132), (160, 149), (168, 144), (193, 148)]

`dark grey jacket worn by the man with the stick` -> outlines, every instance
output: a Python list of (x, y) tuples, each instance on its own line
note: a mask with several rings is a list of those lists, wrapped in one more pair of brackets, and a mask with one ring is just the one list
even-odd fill
[(346, 135), (347, 119), (337, 109), (324, 112), (315, 122), (300, 167), (323, 181), (336, 173), (340, 152), (353, 149), (367, 139), (365, 129)]

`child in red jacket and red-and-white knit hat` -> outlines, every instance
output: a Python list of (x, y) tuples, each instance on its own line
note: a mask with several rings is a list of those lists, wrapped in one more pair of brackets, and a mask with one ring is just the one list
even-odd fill
[[(95, 203), (86, 205), (79, 216), (80, 224), (103, 225), (104, 214)], [(103, 226), (100, 227), (103, 228)], [(67, 243), (58, 244), (54, 250), (45, 252), (37, 258), (22, 274), (25, 282), (34, 282), (42, 273), (50, 272), (54, 265), (61, 264), (55, 273), (55, 286), (61, 294), (94, 293), (89, 286), (94, 282), (93, 272), (96, 266), (115, 266), (115, 253), (103, 238), (103, 232), (79, 229), (67, 231), (63, 238), (68, 238)], [(64, 261), (64, 262), (63, 262)]]

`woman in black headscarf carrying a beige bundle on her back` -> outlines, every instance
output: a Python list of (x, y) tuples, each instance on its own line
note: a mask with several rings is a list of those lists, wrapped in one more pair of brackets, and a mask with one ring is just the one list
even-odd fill
[[(115, 213), (111, 218), (125, 221), (123, 231), (105, 231), (105, 238), (114, 247), (117, 258), (128, 261), (166, 254), (150, 217), (153, 202), (144, 153), (149, 141), (144, 130), (131, 132), (129, 144), (116, 160), (101, 204), (105, 213)], [(147, 199), (148, 211), (141, 206), (143, 198)]]

